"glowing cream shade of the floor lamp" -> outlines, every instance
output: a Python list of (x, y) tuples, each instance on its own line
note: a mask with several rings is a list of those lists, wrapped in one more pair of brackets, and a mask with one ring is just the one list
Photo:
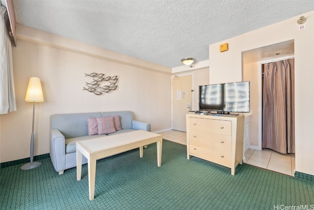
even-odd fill
[(41, 89), (41, 83), (39, 78), (29, 78), (28, 87), (26, 91), (26, 102), (43, 102), (44, 95)]

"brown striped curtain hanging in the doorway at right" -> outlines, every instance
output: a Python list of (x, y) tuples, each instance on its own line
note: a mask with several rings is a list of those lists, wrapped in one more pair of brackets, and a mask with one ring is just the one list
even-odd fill
[(295, 153), (294, 59), (264, 64), (262, 148)]

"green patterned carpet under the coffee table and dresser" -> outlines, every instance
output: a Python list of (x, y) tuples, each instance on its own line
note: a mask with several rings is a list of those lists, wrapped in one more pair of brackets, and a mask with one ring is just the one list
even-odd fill
[[(31, 170), (0, 171), (1, 210), (279, 210), (314, 208), (314, 182), (243, 164), (229, 168), (186, 158), (186, 146), (164, 140), (161, 167), (156, 143), (144, 157), (132, 150), (97, 161), (95, 199), (89, 200), (87, 164), (58, 175), (50, 158)], [(282, 205), (282, 206), (281, 206)], [(311, 206), (312, 205), (312, 206)], [(278, 207), (278, 208), (276, 208)]]

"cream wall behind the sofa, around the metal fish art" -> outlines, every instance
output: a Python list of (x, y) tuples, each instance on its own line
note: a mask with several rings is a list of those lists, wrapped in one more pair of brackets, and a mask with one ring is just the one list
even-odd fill
[[(1, 115), (1, 162), (29, 157), (32, 103), (28, 79), (41, 79), (45, 102), (35, 107), (35, 152), (49, 153), (50, 115), (131, 110), (151, 131), (171, 128), (171, 69), (19, 25), (12, 49), (17, 111)], [(118, 76), (118, 88), (97, 96), (83, 91), (84, 73)]]

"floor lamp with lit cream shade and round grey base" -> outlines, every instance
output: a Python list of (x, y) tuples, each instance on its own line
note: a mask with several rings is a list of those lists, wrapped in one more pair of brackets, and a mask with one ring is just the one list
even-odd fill
[(43, 91), (41, 89), (41, 83), (39, 78), (31, 77), (28, 82), (28, 87), (26, 91), (26, 102), (33, 103), (33, 127), (30, 137), (30, 162), (21, 166), (22, 170), (28, 170), (36, 168), (41, 165), (41, 162), (33, 162), (34, 158), (34, 120), (35, 120), (35, 102), (44, 102)]

